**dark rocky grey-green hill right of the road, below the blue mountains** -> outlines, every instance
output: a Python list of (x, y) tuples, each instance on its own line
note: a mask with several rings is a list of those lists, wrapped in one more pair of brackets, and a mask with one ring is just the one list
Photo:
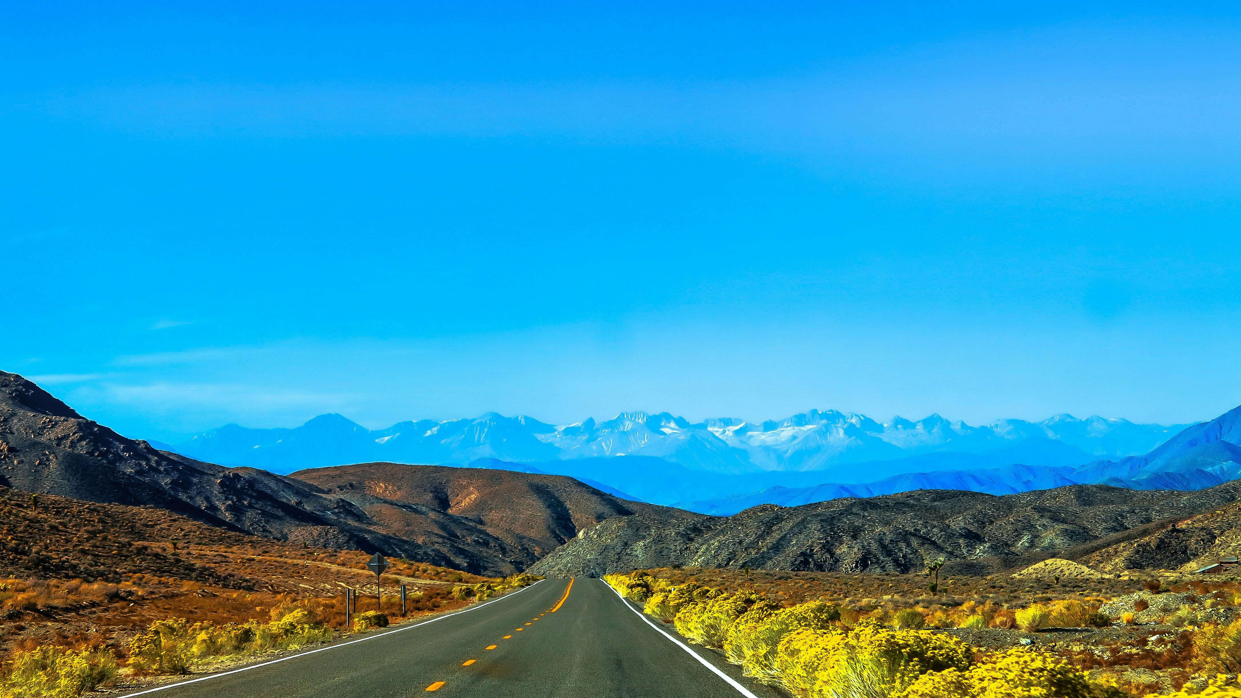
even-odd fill
[(1081, 546), (1134, 527), (1219, 508), (1235, 502), (1239, 492), (1241, 483), (1188, 493), (1107, 486), (1003, 497), (921, 491), (793, 508), (764, 504), (721, 518), (625, 517), (587, 529), (531, 571), (598, 575), (697, 565), (907, 573), (937, 559), (988, 560), (980, 569), (994, 570), (1009, 566), (1005, 559), (1015, 563), (1030, 553)]

